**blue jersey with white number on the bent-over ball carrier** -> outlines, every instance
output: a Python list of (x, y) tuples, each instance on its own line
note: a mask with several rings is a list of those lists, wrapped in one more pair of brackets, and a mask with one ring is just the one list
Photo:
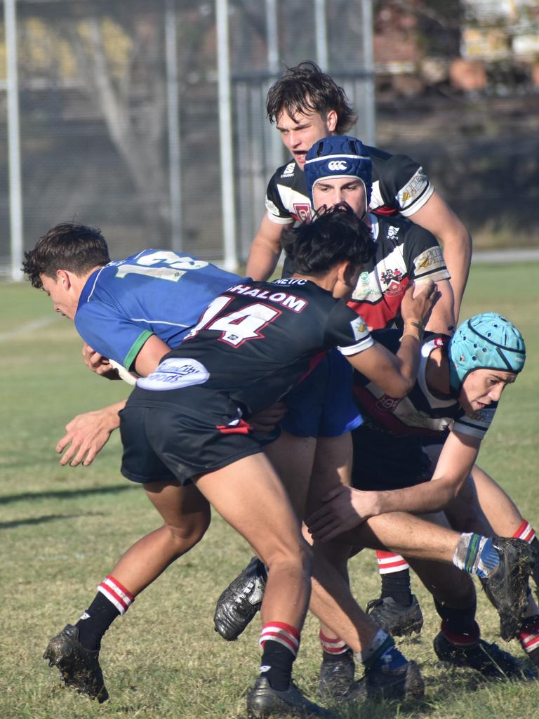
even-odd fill
[(240, 279), (196, 257), (145, 249), (88, 278), (75, 326), (96, 352), (131, 369), (149, 336), (177, 347), (213, 298)]

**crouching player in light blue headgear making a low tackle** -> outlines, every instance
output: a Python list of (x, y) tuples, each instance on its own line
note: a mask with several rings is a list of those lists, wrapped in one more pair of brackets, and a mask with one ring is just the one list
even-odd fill
[[(395, 330), (375, 333), (393, 350), (399, 334)], [(378, 512), (428, 513), (429, 521), (436, 521), (433, 513), (444, 510), (459, 495), (469, 476), (502, 392), (515, 382), (524, 366), (525, 345), (510, 321), (497, 313), (484, 313), (461, 324), (451, 338), (430, 334), (423, 342), (422, 357), (415, 387), (402, 400), (391, 398), (365, 377), (358, 377), (354, 391), (364, 423), (354, 436), (354, 449), (358, 449), (354, 452), (354, 489), (334, 487), (324, 498), (327, 504), (307, 519), (319, 541), (348, 532), (347, 542), (361, 544), (361, 530), (356, 539), (354, 531), (349, 530)], [(436, 449), (432, 453), (433, 469), (429, 469), (423, 452), (425, 434), (436, 440), (432, 446)], [(487, 536), (525, 536), (537, 553), (535, 532), (502, 494), (502, 500), (494, 503), (494, 511), (489, 503), (482, 505)], [(469, 501), (473, 505), (474, 500)], [(460, 520), (461, 529), (477, 531), (473, 511)], [(445, 518), (441, 516), (439, 521), (445, 523)], [(484, 523), (479, 524), (479, 531), (484, 532)], [(410, 562), (430, 591), (436, 587), (433, 595), (442, 618), (441, 631), (434, 639), (439, 659), (497, 678), (522, 673), (510, 654), (480, 639), (471, 582), (467, 582), (466, 590), (466, 582), (461, 580), (460, 587), (454, 587), (456, 593), (450, 589), (441, 601), (437, 592), (443, 572), (428, 563)], [(529, 595), (524, 620), (511, 635), (517, 636), (534, 664), (539, 664), (538, 614)]]

